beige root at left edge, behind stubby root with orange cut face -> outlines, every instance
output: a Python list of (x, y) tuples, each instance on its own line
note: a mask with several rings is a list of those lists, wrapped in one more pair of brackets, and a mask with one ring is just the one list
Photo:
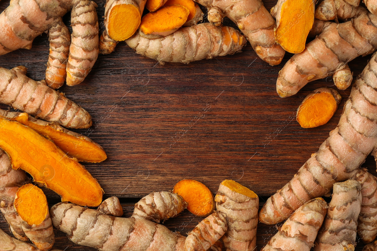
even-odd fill
[(14, 170), (8, 155), (0, 148), (0, 211), (8, 222), (11, 232), (22, 241), (27, 241), (29, 238), (22, 230), (13, 203), (18, 188), (28, 183), (30, 183), (30, 179), (26, 176), (25, 171)]

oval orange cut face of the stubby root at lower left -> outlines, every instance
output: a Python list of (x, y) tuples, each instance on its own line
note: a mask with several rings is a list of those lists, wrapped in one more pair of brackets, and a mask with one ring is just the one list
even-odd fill
[(33, 184), (26, 184), (18, 189), (14, 207), (21, 219), (29, 225), (41, 224), (48, 214), (46, 195)]

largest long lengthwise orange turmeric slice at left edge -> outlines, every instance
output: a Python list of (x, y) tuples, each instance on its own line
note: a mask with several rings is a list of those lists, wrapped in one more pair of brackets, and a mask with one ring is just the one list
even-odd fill
[(0, 148), (13, 169), (30, 173), (34, 182), (61, 196), (61, 201), (97, 207), (103, 190), (90, 173), (53, 142), (33, 129), (0, 117)]

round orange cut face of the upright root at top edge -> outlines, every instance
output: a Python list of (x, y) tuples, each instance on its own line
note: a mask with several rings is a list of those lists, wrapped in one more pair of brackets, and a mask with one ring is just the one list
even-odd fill
[(108, 33), (116, 41), (131, 37), (141, 21), (140, 10), (135, 5), (115, 5), (109, 15)]

